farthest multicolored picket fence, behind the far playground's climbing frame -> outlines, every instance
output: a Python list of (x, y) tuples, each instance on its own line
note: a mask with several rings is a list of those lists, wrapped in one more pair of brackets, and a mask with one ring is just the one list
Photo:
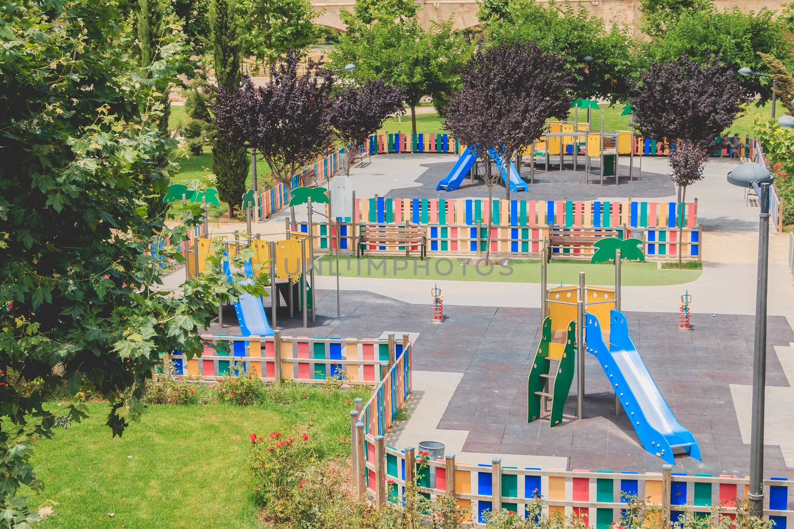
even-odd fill
[[(650, 140), (642, 136), (633, 136), (632, 146), (635, 156), (666, 156), (669, 154), (669, 146), (658, 140)], [(373, 134), (369, 136), (366, 146), (362, 151), (368, 151), (370, 155), (383, 155), (394, 152), (443, 152), (461, 153), (461, 144), (451, 134), (446, 132), (434, 132), (426, 134), (407, 134), (404, 132), (390, 132), (386, 134)], [(744, 140), (739, 140), (737, 145), (731, 145), (727, 138), (717, 138), (717, 146), (711, 152), (711, 156), (720, 158), (752, 158), (754, 153), (754, 142), (749, 136)], [(569, 152), (570, 154), (570, 152)]]

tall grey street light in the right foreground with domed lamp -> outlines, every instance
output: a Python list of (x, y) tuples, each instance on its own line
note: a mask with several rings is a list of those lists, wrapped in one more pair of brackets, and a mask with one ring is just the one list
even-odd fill
[[(781, 118), (782, 120), (782, 118)], [(769, 187), (774, 177), (759, 163), (742, 163), (728, 172), (734, 186), (752, 187), (761, 201), (758, 272), (755, 287), (753, 403), (750, 416), (750, 516), (764, 513), (764, 399), (766, 384), (766, 291), (769, 269)]]

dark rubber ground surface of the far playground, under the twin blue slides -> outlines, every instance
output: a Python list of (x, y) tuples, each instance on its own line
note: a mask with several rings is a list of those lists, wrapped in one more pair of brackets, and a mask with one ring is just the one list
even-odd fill
[[(395, 155), (410, 156), (410, 155)], [(449, 160), (438, 163), (427, 163), (424, 165), (426, 171), (423, 172), (415, 182), (421, 186), (394, 189), (389, 191), (386, 196), (394, 198), (435, 198), (441, 194), (447, 198), (468, 198), (468, 197), (488, 197), (488, 187), (481, 179), (472, 182), (468, 177), (464, 178), (461, 186), (449, 193), (441, 190), (437, 191), (436, 186), (441, 178), (444, 178), (455, 165), (456, 158), (449, 155), (443, 159)], [(552, 158), (554, 160), (554, 158)], [(567, 163), (563, 171), (559, 171), (559, 162), (549, 168), (549, 172), (542, 171), (545, 165), (539, 166), (541, 171), (535, 171), (535, 183), (529, 185), (528, 193), (511, 193), (511, 198), (523, 198), (531, 200), (561, 200), (566, 197), (571, 200), (594, 200), (598, 197), (671, 197), (676, 194), (675, 186), (670, 181), (667, 174), (651, 173), (642, 171), (638, 158), (634, 158), (633, 180), (629, 181), (629, 159), (621, 157), (620, 163), (620, 184), (615, 187), (615, 177), (604, 178), (603, 187), (599, 185), (598, 165), (593, 163), (591, 173), (588, 174), (588, 183), (585, 183), (584, 159), (579, 160), (578, 171), (572, 171), (570, 158), (566, 158)], [(594, 160), (595, 161), (595, 160)], [(521, 175), (526, 182), (530, 180), (530, 167), (522, 163)], [(494, 197), (503, 198), (505, 190), (503, 185), (494, 187)]]

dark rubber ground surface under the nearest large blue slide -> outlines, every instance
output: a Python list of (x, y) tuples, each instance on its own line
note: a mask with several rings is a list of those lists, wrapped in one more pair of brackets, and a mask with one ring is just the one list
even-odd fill
[[(414, 370), (464, 374), (437, 425), (468, 431), (464, 451), (567, 457), (569, 469), (661, 468), (661, 459), (642, 449), (626, 416), (615, 416), (614, 393), (592, 355), (586, 355), (586, 418), (554, 428), (543, 421), (526, 423), (526, 377), (538, 346), (540, 309), (448, 305), (445, 322), (433, 324), (429, 304), (343, 292), (339, 321), (324, 316), (336, 314), (335, 292), (318, 291), (317, 301), (315, 327), (305, 329), (299, 319), (280, 318), (279, 328), (287, 335), (322, 337), (419, 332)], [(233, 323), (233, 311), (226, 314)], [(703, 454), (703, 462), (677, 459), (674, 471), (745, 476), (750, 445), (742, 443), (729, 385), (752, 383), (753, 316), (693, 314), (692, 331), (678, 329), (676, 313), (626, 312), (626, 316), (650, 374)], [(239, 328), (226, 327), (223, 332), (236, 334)], [(788, 387), (773, 346), (790, 342), (794, 332), (785, 318), (770, 316), (767, 385)], [(433, 395), (417, 392), (413, 398)], [(768, 400), (767, 405), (776, 403)], [(565, 412), (575, 410), (576, 378)], [(765, 447), (765, 476), (794, 477), (794, 468), (786, 466), (777, 445)]]

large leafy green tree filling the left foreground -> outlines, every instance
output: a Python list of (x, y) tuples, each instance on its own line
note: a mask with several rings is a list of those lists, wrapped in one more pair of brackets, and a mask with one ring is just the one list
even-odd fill
[[(158, 128), (159, 86), (181, 58), (179, 47), (163, 47), (141, 67), (124, 13), (117, 0), (0, 5), (0, 35), (14, 36), (0, 60), (2, 527), (40, 518), (20, 496), (42, 485), (35, 445), (85, 416), (76, 398), (45, 406), (52, 390), (106, 399), (107, 424), (121, 435), (143, 411), (158, 351), (200, 353), (198, 329), (219, 301), (264, 291), (238, 276), (229, 284), (214, 265), (182, 297), (159, 291), (160, 263), (145, 250), (160, 226), (148, 218), (141, 175), (174, 147)], [(198, 207), (160, 235), (184, 240)], [(182, 259), (175, 247), (164, 252)]]

